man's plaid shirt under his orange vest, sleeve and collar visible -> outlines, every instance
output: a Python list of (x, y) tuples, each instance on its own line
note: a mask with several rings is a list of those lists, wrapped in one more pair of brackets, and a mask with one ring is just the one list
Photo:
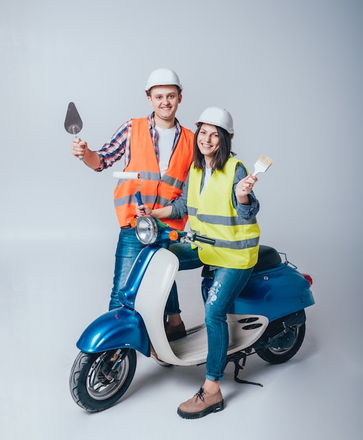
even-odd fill
[[(157, 146), (157, 130), (155, 128), (154, 122), (154, 112), (147, 117), (147, 123), (149, 124), (150, 136), (152, 138), (152, 143), (155, 148), (155, 155), (157, 159), (159, 159), (159, 148)], [(125, 166), (126, 168), (128, 162), (130, 161), (130, 138), (131, 138), (131, 128), (132, 128), (132, 119), (124, 122), (124, 124), (119, 127), (114, 136), (109, 143), (105, 143), (103, 148), (98, 150), (98, 155), (100, 156), (100, 167), (96, 169), (96, 172), (103, 171), (108, 167), (112, 167), (114, 162), (117, 162), (121, 159), (123, 155), (125, 155)], [(176, 136), (174, 137), (173, 149), (176, 148), (180, 138), (181, 127), (176, 119)]]

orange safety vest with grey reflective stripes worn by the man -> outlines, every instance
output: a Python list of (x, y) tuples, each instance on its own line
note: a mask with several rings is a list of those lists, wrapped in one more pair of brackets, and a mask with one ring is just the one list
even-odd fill
[[(150, 209), (164, 207), (170, 200), (180, 196), (192, 163), (193, 139), (192, 131), (182, 127), (178, 145), (169, 161), (169, 168), (161, 178), (147, 118), (132, 119), (130, 161), (124, 171), (138, 172), (140, 180), (120, 179), (114, 189), (114, 207), (120, 226), (127, 226), (136, 216), (137, 190), (140, 190), (143, 203)], [(162, 221), (173, 228), (183, 230), (187, 216), (183, 219), (162, 219)]]

